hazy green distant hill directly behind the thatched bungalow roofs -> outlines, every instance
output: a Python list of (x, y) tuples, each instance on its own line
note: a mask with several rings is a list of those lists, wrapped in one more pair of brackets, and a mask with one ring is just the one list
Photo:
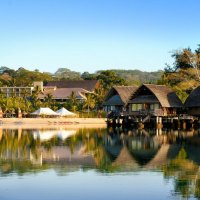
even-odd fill
[[(159, 70), (155, 72), (143, 72), (140, 70), (117, 70), (114, 71), (118, 76), (125, 79), (129, 85), (131, 84), (141, 84), (141, 83), (157, 83), (161, 80), (164, 71)], [(98, 71), (97, 73), (100, 73)]]

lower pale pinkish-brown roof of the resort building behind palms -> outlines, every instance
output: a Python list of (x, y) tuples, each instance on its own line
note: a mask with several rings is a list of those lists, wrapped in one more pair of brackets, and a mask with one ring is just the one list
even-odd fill
[(89, 91), (82, 88), (57, 88), (52, 90), (44, 90), (42, 94), (39, 95), (40, 99), (43, 99), (45, 95), (53, 95), (53, 99), (69, 99), (72, 92), (75, 93), (77, 99), (85, 99), (85, 94)]

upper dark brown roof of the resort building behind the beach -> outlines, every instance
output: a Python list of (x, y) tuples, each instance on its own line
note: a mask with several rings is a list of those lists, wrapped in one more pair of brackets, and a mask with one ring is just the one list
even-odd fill
[(46, 86), (56, 86), (57, 88), (83, 88), (88, 91), (94, 91), (99, 85), (98, 80), (67, 80), (67, 81), (49, 81)]

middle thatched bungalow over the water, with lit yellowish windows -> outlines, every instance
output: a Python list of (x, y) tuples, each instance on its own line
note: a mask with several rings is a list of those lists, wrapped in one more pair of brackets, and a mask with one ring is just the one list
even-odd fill
[(165, 85), (143, 84), (129, 98), (129, 115), (174, 116), (182, 103)]

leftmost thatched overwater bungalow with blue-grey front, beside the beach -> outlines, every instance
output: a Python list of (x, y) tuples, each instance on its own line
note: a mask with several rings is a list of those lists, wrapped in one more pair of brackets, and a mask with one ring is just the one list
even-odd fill
[(107, 93), (103, 102), (106, 112), (121, 112), (127, 104), (130, 95), (137, 89), (136, 86), (113, 86)]

